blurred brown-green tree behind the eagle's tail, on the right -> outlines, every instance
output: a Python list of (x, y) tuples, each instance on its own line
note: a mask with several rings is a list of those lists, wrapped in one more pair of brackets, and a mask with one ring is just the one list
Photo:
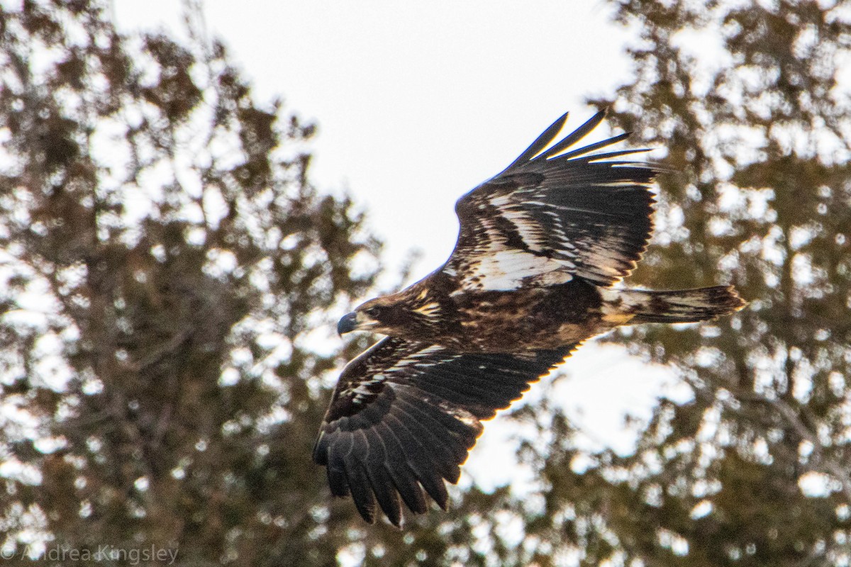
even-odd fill
[(531, 550), (516, 563), (846, 565), (851, 3), (616, 5), (641, 33), (635, 74), (591, 104), (677, 172), (631, 283), (733, 283), (751, 305), (608, 337), (694, 393), (662, 400), (633, 456), (579, 462), (557, 412), (521, 414), (554, 440), (523, 448), (545, 488), (534, 513), (514, 507)]

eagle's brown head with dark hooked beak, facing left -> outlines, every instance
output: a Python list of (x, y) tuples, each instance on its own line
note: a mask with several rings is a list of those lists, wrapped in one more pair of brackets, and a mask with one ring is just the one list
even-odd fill
[(380, 332), (393, 337), (407, 337), (411, 332), (424, 332), (440, 315), (440, 303), (427, 290), (403, 292), (370, 299), (344, 315), (337, 323), (340, 335), (351, 331)]

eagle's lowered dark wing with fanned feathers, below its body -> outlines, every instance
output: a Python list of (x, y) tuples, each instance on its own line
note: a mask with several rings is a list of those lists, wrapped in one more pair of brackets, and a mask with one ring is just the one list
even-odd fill
[(443, 479), (494, 417), (577, 345), (524, 354), (458, 354), (386, 337), (346, 365), (313, 448), (334, 496), (351, 493), (368, 522), (378, 501), (399, 525), (402, 501), (426, 512), (423, 489), (446, 508)]

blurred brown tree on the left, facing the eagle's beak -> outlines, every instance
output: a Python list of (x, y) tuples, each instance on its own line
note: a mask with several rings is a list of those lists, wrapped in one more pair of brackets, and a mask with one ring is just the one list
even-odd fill
[(183, 42), (106, 9), (0, 8), (3, 557), (332, 564), (322, 323), (378, 245), (308, 181), (314, 128), (254, 101), (197, 7)]

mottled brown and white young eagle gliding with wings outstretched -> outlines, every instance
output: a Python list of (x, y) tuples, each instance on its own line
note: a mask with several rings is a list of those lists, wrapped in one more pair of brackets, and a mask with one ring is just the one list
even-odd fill
[(427, 494), (445, 509), (444, 480), (458, 481), (482, 422), (586, 338), (745, 305), (731, 286), (613, 287), (647, 247), (659, 170), (623, 160), (647, 150), (597, 151), (628, 133), (573, 149), (605, 111), (552, 144), (567, 116), (455, 203), (460, 231), (445, 264), (340, 319), (340, 334), (386, 337), (340, 375), (313, 460), (370, 523), (376, 503), (397, 526), (402, 502), (425, 513)]

